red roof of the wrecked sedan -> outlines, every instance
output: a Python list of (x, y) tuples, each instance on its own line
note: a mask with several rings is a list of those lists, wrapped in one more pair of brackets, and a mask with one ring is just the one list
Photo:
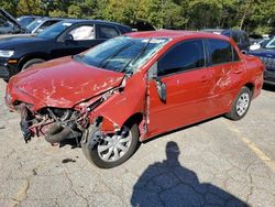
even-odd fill
[(148, 31), (148, 32), (133, 32), (128, 33), (128, 36), (131, 37), (146, 37), (146, 39), (219, 39), (219, 40), (226, 40), (229, 41), (229, 37), (208, 33), (208, 32), (201, 32), (201, 31), (185, 31), (185, 30), (158, 30), (158, 31)]

